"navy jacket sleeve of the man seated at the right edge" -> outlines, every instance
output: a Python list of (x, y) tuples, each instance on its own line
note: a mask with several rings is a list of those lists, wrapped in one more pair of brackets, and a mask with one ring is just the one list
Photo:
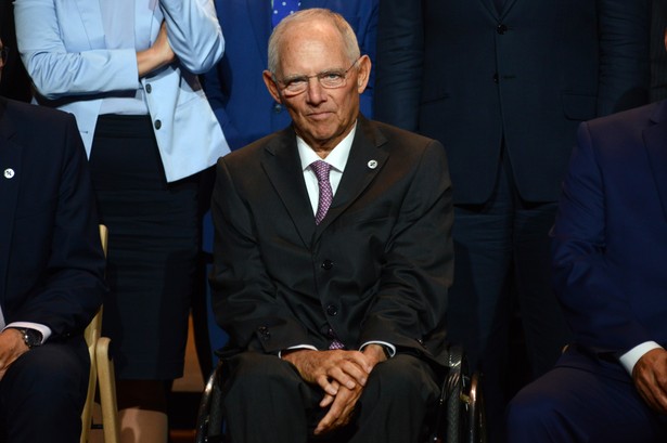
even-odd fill
[(588, 123), (578, 132), (553, 227), (554, 288), (583, 346), (625, 352), (653, 338), (632, 316), (605, 253), (605, 195)]

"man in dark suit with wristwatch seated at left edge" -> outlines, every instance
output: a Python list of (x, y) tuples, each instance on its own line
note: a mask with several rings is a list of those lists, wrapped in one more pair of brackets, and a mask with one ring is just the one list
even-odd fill
[(3, 443), (80, 438), (90, 367), (82, 333), (106, 288), (87, 168), (73, 116), (0, 97)]

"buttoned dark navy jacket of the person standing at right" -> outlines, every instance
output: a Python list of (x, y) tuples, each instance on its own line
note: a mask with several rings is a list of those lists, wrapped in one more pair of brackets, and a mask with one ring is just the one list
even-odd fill
[(375, 118), (439, 140), (458, 204), (555, 201), (577, 125), (647, 103), (647, 0), (383, 0)]

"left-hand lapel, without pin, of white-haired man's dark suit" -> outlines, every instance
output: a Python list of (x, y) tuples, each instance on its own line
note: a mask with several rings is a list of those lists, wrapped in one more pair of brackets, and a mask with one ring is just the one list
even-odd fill
[(267, 145), (261, 166), (287, 209), (304, 245), (310, 247), (316, 227), (315, 216), (304, 183), (296, 135), (291, 127), (282, 130)]

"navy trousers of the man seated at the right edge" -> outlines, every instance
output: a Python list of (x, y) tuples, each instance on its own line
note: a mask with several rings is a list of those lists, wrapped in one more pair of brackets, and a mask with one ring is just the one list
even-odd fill
[(667, 417), (649, 408), (620, 364), (569, 348), (512, 400), (508, 435), (512, 443), (658, 443), (667, 441)]

